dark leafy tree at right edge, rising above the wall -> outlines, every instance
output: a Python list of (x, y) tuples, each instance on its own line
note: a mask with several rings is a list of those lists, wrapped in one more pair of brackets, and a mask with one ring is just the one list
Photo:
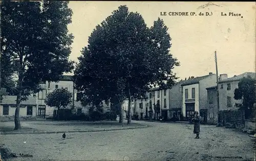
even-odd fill
[[(234, 90), (234, 99), (242, 100), (240, 108), (245, 110), (245, 117), (255, 117), (251, 116), (253, 105), (255, 101), (256, 92), (256, 80), (255, 78), (243, 77), (238, 83), (238, 88)], [(255, 109), (254, 109), (255, 110)], [(254, 113), (255, 115), (255, 113)]]

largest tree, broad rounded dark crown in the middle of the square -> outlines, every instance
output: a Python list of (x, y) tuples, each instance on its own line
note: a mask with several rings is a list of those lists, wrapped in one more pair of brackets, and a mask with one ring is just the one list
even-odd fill
[[(101, 25), (97, 25), (84, 47), (75, 71), (76, 85), (84, 96), (90, 88), (101, 100), (117, 97), (120, 102), (140, 98), (152, 85), (172, 85), (172, 69), (179, 65), (169, 54), (170, 37), (161, 19), (147, 28), (139, 13), (120, 6)], [(87, 81), (82, 81), (87, 80)]]

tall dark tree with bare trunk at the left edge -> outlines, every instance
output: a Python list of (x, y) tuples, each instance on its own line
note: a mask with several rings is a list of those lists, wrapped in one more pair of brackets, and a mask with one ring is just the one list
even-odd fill
[(17, 75), (14, 129), (20, 129), (20, 101), (41, 90), (39, 83), (57, 82), (73, 69), (72, 11), (67, 1), (2, 1), (1, 11), (1, 51)]

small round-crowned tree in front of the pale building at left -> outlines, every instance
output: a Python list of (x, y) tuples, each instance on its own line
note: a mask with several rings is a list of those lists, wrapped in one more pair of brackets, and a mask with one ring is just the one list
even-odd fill
[(45, 103), (59, 110), (59, 108), (66, 108), (72, 103), (72, 96), (72, 93), (67, 88), (58, 88), (47, 94)]

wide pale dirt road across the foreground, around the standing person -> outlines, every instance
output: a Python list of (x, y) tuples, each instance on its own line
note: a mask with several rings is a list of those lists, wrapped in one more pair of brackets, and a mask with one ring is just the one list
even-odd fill
[(134, 122), (151, 127), (67, 133), (64, 141), (61, 134), (1, 135), (0, 140), (16, 155), (33, 155), (10, 160), (252, 161), (255, 158), (252, 138), (234, 129), (201, 125), (201, 138), (194, 139), (191, 124)]

